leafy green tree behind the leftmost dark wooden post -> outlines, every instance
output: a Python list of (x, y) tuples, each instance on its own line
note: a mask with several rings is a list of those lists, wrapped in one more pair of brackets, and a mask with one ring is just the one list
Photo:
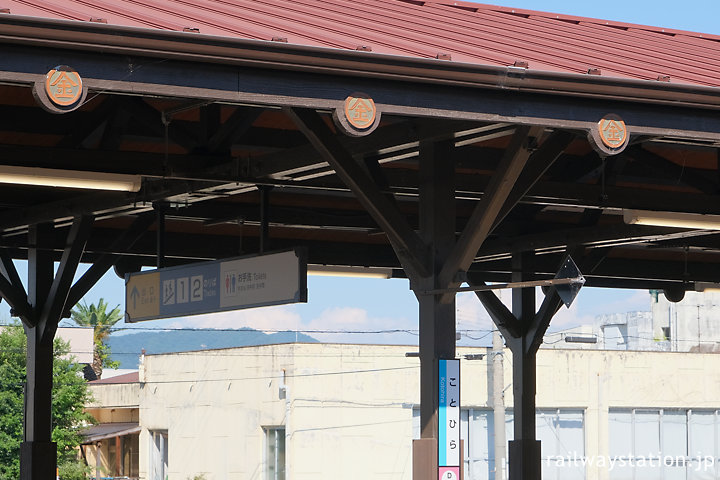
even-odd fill
[[(18, 324), (0, 328), (0, 480), (20, 478), (26, 339)], [(83, 411), (90, 398), (82, 365), (68, 356), (70, 346), (55, 339), (53, 360), (52, 440), (58, 445), (60, 478), (83, 478), (77, 460), (82, 436), (79, 427), (92, 422)], [(80, 475), (80, 476), (79, 476)]]

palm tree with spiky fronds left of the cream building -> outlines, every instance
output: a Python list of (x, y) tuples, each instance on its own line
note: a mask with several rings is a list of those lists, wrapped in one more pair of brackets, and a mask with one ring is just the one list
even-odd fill
[(105, 345), (105, 339), (110, 335), (112, 326), (122, 319), (122, 313), (120, 313), (120, 305), (110, 312), (107, 309), (108, 304), (101, 298), (97, 306), (92, 303), (87, 305), (83, 302), (75, 305), (75, 308), (70, 311), (70, 318), (75, 323), (83, 327), (93, 327), (92, 369), (97, 378), (101, 377), (103, 367), (113, 368), (118, 365), (118, 362), (113, 362), (108, 358), (110, 349)]

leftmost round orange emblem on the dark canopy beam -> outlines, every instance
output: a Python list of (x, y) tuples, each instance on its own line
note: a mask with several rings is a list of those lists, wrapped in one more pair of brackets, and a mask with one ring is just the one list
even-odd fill
[(35, 82), (33, 94), (38, 103), (52, 113), (75, 110), (87, 95), (82, 77), (67, 65), (53, 68), (43, 80)]

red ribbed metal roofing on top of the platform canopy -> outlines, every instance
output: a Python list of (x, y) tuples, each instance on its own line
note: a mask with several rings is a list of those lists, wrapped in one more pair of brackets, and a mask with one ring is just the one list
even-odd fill
[[(720, 86), (720, 36), (448, 0), (0, 0), (10, 15)], [(196, 33), (188, 32), (188, 35)]]

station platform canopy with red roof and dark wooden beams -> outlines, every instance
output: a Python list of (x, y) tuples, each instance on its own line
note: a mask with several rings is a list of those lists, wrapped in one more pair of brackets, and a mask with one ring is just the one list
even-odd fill
[[(720, 280), (718, 36), (440, 0), (0, 12), (11, 257), (27, 256), (30, 225), (51, 223), (59, 259), (71, 219), (91, 215), (83, 261), (155, 265), (162, 210), (166, 265), (252, 254), (262, 238), (266, 251), (307, 247), (311, 265), (404, 276), (397, 252), (424, 255), (419, 159), (432, 146), (453, 165), (457, 238), (483, 232), (466, 269), (477, 281), (508, 281), (529, 251), (532, 276), (551, 278), (571, 249), (588, 286), (679, 294)], [(57, 66), (82, 79), (71, 108), (37, 98)], [(333, 120), (348, 98), (373, 101), (373, 125)], [(598, 140), (608, 122), (621, 144)], [(106, 190), (113, 180), (124, 191)]]

